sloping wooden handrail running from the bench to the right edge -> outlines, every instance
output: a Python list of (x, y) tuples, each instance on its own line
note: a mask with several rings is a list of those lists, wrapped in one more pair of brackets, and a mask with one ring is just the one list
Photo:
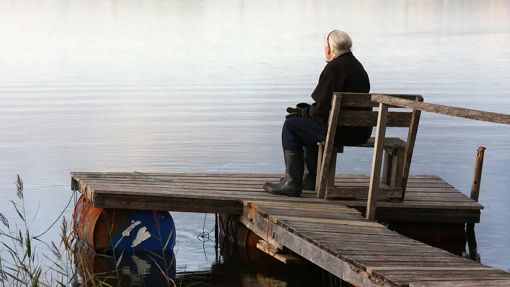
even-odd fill
[(399, 99), (399, 98), (395, 98), (395, 97), (391, 97), (391, 96), (387, 96), (387, 95), (381, 95), (381, 94), (373, 94), (372, 100), (379, 102), (379, 103), (405, 107), (406, 109), (413, 109), (413, 110), (424, 111), (424, 112), (429, 112), (429, 113), (442, 114), (442, 115), (461, 117), (461, 118), (467, 118), (467, 119), (474, 119), (474, 120), (480, 120), (480, 121), (510, 124), (510, 115), (509, 114), (500, 114), (500, 113), (493, 113), (493, 112), (486, 112), (486, 111), (479, 111), (479, 110), (471, 110), (471, 109), (465, 109), (463, 107), (448, 106), (448, 105), (441, 105), (441, 104), (424, 103), (422, 101)]

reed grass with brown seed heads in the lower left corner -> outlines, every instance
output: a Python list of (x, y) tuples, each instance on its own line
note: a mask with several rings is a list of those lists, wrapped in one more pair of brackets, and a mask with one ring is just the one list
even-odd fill
[[(25, 195), (27, 194), (25, 194), (23, 180), (19, 175), (17, 175), (15, 184), (16, 199), (8, 201), (14, 207), (18, 220), (14, 223), (9, 222), (0, 210), (0, 285), (14, 287), (114, 287), (106, 283), (107, 280), (112, 279), (118, 280), (118, 284), (120, 284), (121, 275), (118, 267), (123, 253), (119, 258), (114, 257), (116, 270), (108, 274), (90, 274), (82, 253), (76, 252), (80, 246), (74, 236), (74, 227), (69, 224), (65, 216), (62, 217), (60, 225), (60, 242), (51, 241), (47, 244), (41, 241), (38, 236), (33, 236), (30, 227), (37, 217), (37, 211), (29, 221), (25, 212)], [(165, 244), (163, 249), (169, 247), (168, 242), (169, 239), (166, 240), (166, 243), (161, 243)], [(50, 254), (40, 252), (38, 244), (46, 245)], [(160, 257), (155, 253), (151, 252), (151, 254)], [(163, 256), (165, 256), (164, 253)], [(167, 265), (166, 259), (164, 261)], [(174, 259), (172, 258), (169, 263), (170, 266), (175, 264)], [(83, 275), (86, 277), (84, 280), (79, 276), (79, 266), (82, 267)], [(170, 266), (158, 265), (159, 272), (165, 276), (168, 286), (176, 287), (173, 279), (169, 277)], [(112, 276), (112, 274), (116, 276)]]

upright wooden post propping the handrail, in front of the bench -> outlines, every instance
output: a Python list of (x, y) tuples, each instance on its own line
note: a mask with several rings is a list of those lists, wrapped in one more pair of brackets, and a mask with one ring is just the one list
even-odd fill
[(377, 118), (377, 129), (375, 132), (374, 156), (372, 159), (372, 172), (370, 174), (370, 188), (368, 191), (366, 218), (370, 221), (375, 220), (375, 208), (377, 206), (377, 192), (379, 191), (379, 181), (382, 164), (382, 151), (384, 147), (384, 138), (386, 135), (386, 119), (388, 118), (388, 105), (379, 104), (379, 116)]

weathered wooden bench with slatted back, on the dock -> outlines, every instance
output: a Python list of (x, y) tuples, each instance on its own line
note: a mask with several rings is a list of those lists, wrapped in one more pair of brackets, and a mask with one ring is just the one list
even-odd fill
[[(407, 100), (423, 101), (420, 95), (389, 96)], [(343, 183), (335, 185), (335, 169), (337, 153), (343, 152), (343, 146), (335, 146), (334, 138), (337, 125), (354, 125), (358, 127), (377, 127), (378, 112), (343, 110), (348, 107), (378, 107), (379, 103), (372, 101), (372, 94), (334, 93), (332, 109), (326, 140), (319, 144), (319, 157), (317, 159), (317, 181), (315, 190), (318, 198), (324, 199), (367, 199), (369, 183)], [(385, 138), (384, 165), (379, 184), (378, 200), (403, 200), (407, 185), (414, 141), (420, 121), (420, 111), (402, 111), (402, 108), (390, 106), (400, 111), (387, 113), (387, 127), (408, 128), (407, 141), (399, 138)], [(375, 138), (370, 138), (365, 144), (351, 147), (374, 148)]]

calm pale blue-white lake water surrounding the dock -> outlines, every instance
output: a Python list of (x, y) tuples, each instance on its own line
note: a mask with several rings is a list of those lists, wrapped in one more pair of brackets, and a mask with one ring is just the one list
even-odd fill
[[(1, 211), (15, 220), (16, 174), (29, 218), (41, 204), (39, 234), (68, 203), (70, 171), (283, 172), (285, 109), (311, 101), (329, 29), (350, 33), (372, 92), (510, 110), (508, 1), (0, 0)], [(505, 270), (508, 142), (507, 125), (424, 113), (411, 167), (469, 194), (487, 148), (478, 251)], [(368, 174), (371, 158), (349, 149), (337, 172)], [(172, 216), (177, 272), (228, 277), (196, 237), (204, 214)], [(246, 274), (245, 286), (267, 285)]]

